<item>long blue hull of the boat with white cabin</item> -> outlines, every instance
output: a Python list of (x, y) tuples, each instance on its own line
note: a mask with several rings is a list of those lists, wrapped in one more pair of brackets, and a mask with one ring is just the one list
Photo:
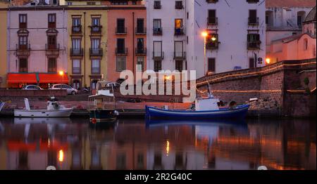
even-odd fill
[(213, 111), (163, 110), (146, 106), (146, 117), (148, 119), (244, 119), (248, 110), (249, 105)]

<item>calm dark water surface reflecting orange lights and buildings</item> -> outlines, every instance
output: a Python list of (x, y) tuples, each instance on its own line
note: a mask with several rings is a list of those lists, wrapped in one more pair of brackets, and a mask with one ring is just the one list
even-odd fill
[(0, 169), (316, 169), (315, 121), (151, 123), (0, 119)]

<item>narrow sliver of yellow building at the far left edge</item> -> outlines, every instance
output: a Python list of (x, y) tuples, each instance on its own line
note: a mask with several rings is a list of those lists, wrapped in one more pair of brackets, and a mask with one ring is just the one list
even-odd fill
[(6, 13), (8, 4), (8, 1), (0, 0), (0, 88), (6, 87)]

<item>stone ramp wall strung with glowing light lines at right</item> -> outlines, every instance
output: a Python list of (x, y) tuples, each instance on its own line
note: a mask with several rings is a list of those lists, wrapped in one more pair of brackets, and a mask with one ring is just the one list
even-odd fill
[[(305, 78), (309, 79), (308, 85), (304, 84)], [(316, 89), (316, 59), (287, 60), (202, 77), (197, 80), (199, 95), (207, 96), (207, 83), (213, 95), (227, 103), (246, 103), (250, 98), (258, 98), (251, 103), (252, 110), (281, 110), (282, 114), (294, 117), (316, 113), (316, 102), (312, 103), (313, 99), (316, 101), (316, 92), (307, 91)]]

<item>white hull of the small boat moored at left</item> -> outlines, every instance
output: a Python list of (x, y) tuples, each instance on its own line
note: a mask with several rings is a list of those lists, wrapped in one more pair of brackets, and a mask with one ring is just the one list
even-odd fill
[(70, 117), (73, 108), (65, 110), (14, 110), (15, 117)]

